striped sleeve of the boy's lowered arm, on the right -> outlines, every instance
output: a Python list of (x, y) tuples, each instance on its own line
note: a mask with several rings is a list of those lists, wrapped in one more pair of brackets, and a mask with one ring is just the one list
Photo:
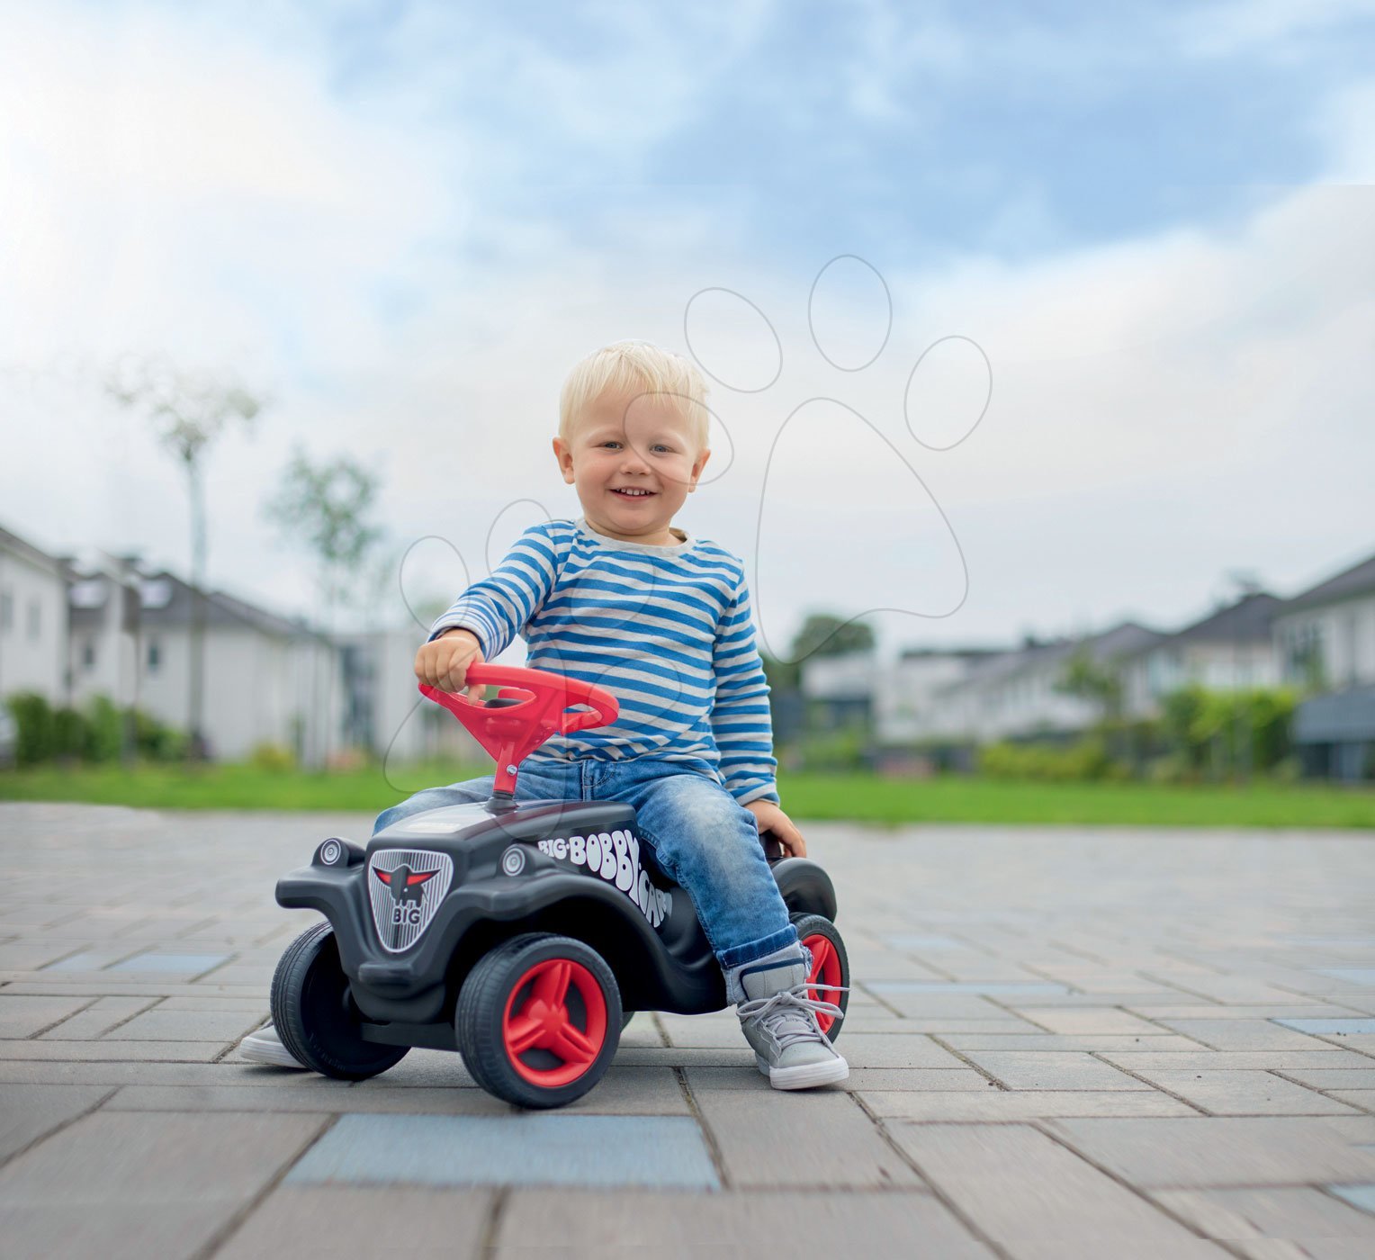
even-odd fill
[(755, 647), (749, 587), (741, 569), (730, 605), (722, 613), (712, 647), (716, 699), (711, 730), (720, 750), (726, 788), (741, 805), (778, 803), (778, 762), (773, 755), (769, 681)]

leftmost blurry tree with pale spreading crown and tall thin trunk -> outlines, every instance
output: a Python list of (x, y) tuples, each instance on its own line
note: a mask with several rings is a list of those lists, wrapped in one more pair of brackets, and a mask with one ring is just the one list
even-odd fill
[(187, 758), (205, 758), (205, 580), (209, 552), (205, 462), (232, 421), (252, 424), (264, 400), (232, 380), (183, 371), (161, 359), (126, 360), (106, 377), (106, 393), (151, 421), (182, 464), (191, 502), (191, 691)]

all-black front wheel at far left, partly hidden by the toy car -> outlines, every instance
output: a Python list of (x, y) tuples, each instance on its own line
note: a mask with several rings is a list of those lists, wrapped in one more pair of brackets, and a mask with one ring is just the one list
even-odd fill
[(358, 1008), (329, 923), (286, 948), (272, 974), (272, 1023), (298, 1063), (341, 1081), (362, 1081), (406, 1058), (404, 1045), (377, 1045), (358, 1033)]

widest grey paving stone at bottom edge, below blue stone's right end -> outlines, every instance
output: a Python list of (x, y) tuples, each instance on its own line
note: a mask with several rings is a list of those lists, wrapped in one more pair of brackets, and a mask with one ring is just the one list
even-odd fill
[(496, 1260), (632, 1250), (679, 1260), (773, 1254), (976, 1260), (993, 1254), (949, 1209), (921, 1193), (654, 1193), (630, 1198), (522, 1190), (507, 1201), (496, 1234)]

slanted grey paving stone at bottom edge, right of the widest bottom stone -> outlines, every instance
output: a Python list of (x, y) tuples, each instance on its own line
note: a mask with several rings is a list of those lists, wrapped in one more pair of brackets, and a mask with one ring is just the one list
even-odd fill
[(1226, 1254), (1024, 1125), (898, 1122), (890, 1132), (921, 1175), (1016, 1260)]

